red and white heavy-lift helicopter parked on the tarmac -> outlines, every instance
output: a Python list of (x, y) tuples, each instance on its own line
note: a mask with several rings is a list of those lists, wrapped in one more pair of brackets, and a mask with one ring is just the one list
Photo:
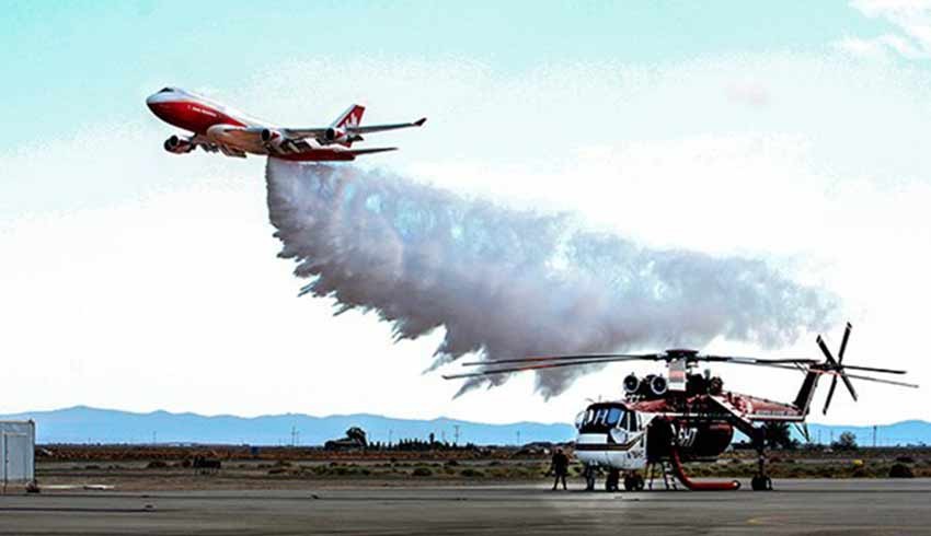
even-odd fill
[[(823, 412), (826, 415), (834, 398), (838, 380), (843, 382), (853, 400), (857, 391), (851, 378), (917, 388), (918, 385), (863, 375), (905, 374), (906, 371), (880, 369), (843, 363), (852, 326), (847, 323), (837, 358), (824, 338), (816, 339), (824, 360), (761, 359), (738, 356), (703, 354), (691, 349), (670, 349), (658, 353), (584, 353), (544, 356), (516, 359), (494, 359), (463, 363), (481, 370), (448, 374), (446, 380), (510, 374), (563, 366), (614, 363), (624, 361), (665, 362), (667, 373), (637, 377), (630, 374), (623, 380), (624, 398), (597, 401), (578, 413), (575, 421), (578, 435), (575, 456), (585, 465), (586, 488), (595, 488), (596, 474), (607, 469), (605, 488), (609, 491), (623, 487), (628, 491), (643, 490), (646, 478), (650, 489), (657, 469), (667, 489), (681, 482), (690, 490), (736, 490), (737, 480), (694, 481), (686, 475), (683, 462), (713, 462), (729, 445), (734, 431), (750, 439), (757, 451), (757, 473), (750, 485), (755, 491), (772, 490), (772, 479), (766, 470), (766, 426), (793, 423), (809, 440), (805, 419), (821, 376), (830, 376), (831, 384)], [(724, 389), (720, 376), (709, 370), (697, 373), (699, 363), (735, 363), (752, 366), (797, 370), (804, 373), (802, 385), (791, 403), (769, 400)], [(849, 374), (847, 371), (855, 371)]]

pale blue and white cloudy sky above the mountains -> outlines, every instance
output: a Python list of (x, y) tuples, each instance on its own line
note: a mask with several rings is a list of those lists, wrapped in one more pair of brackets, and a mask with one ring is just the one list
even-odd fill
[[(353, 102), (401, 151), (359, 165), (651, 247), (761, 258), (842, 299), (851, 363), (923, 383), (931, 302), (931, 3), (18, 2), (0, 19), (0, 412), (77, 404), (256, 416), (571, 422), (613, 365), (544, 400), (529, 376), (455, 398), (441, 334), (298, 298), (264, 161), (168, 154), (164, 85), (285, 126)], [(817, 357), (816, 334), (761, 349)], [(656, 349), (644, 349), (656, 350)], [(448, 372), (457, 369), (450, 366)], [(800, 377), (722, 365), (791, 400)], [(813, 420), (931, 420), (926, 388), (858, 384)]]

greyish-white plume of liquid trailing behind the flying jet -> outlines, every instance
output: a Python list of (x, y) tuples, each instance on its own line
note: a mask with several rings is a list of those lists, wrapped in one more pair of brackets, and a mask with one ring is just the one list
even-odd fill
[[(831, 294), (760, 260), (641, 247), (568, 214), (469, 199), (381, 171), (269, 159), (279, 254), (337, 314), (373, 311), (396, 339), (442, 327), (432, 368), (478, 352), (701, 348), (716, 336), (767, 348), (824, 328)], [(657, 201), (658, 202), (658, 201)], [(537, 372), (550, 397), (598, 365)], [(507, 376), (467, 381), (461, 393)]]

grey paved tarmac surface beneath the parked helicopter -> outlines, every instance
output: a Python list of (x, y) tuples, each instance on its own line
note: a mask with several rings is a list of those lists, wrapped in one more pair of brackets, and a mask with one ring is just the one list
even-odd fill
[(931, 479), (783, 480), (777, 491), (545, 485), (0, 497), (0, 534), (931, 534)]

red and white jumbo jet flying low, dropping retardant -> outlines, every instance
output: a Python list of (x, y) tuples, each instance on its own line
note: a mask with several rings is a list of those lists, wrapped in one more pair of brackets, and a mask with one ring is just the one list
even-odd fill
[(352, 147), (353, 142), (363, 141), (361, 135), (419, 127), (427, 120), (424, 117), (414, 123), (363, 127), (365, 107), (356, 104), (329, 127), (280, 128), (176, 88), (159, 91), (149, 96), (146, 104), (163, 121), (193, 132), (188, 137), (166, 139), (165, 151), (182, 154), (199, 147), (227, 156), (245, 158), (246, 153), (252, 153), (299, 162), (347, 161), (359, 154), (394, 151), (394, 147)]

